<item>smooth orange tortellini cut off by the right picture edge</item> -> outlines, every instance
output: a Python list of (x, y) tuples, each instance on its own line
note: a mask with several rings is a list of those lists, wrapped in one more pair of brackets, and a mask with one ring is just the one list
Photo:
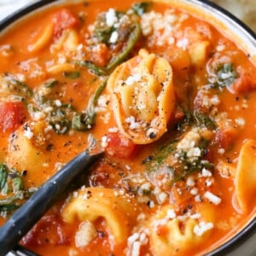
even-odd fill
[(236, 201), (243, 212), (253, 205), (256, 195), (256, 141), (247, 140), (241, 147), (235, 177)]

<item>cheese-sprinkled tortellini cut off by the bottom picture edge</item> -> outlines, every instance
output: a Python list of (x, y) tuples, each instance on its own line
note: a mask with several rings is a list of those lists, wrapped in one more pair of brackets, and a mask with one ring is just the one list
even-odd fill
[(188, 255), (210, 236), (215, 213), (205, 203), (198, 213), (177, 216), (174, 207), (163, 207), (150, 224), (150, 248), (154, 256)]

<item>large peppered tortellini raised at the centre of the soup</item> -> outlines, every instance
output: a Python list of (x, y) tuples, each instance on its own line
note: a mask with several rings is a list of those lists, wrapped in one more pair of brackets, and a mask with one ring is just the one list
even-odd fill
[(172, 67), (164, 58), (141, 49), (113, 71), (107, 88), (119, 131), (133, 143), (152, 143), (166, 132), (175, 96)]

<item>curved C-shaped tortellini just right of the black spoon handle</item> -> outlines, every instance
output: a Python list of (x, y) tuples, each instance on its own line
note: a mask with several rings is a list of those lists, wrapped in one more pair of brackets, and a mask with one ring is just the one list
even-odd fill
[(97, 218), (104, 218), (114, 237), (114, 245), (125, 243), (136, 215), (137, 204), (133, 198), (106, 188), (80, 189), (62, 211), (64, 220), (70, 224), (76, 219), (94, 222)]

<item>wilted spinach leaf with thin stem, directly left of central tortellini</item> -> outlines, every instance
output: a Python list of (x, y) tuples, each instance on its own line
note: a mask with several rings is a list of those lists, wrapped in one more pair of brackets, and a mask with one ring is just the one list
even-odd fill
[(86, 131), (92, 128), (94, 125), (94, 119), (96, 116), (95, 107), (99, 96), (102, 94), (107, 84), (107, 79), (105, 79), (102, 84), (98, 87), (95, 94), (90, 97), (90, 101), (84, 113), (76, 113), (72, 120), (72, 127), (78, 131)]

